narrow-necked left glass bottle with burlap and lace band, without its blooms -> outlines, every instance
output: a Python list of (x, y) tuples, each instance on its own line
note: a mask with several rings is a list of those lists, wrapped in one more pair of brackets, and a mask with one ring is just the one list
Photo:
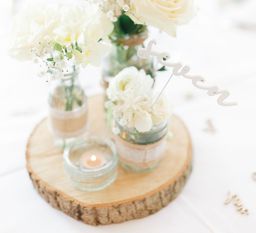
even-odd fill
[(77, 76), (78, 70), (74, 69), (51, 83), (49, 128), (59, 149), (82, 136), (88, 128), (86, 96)]

